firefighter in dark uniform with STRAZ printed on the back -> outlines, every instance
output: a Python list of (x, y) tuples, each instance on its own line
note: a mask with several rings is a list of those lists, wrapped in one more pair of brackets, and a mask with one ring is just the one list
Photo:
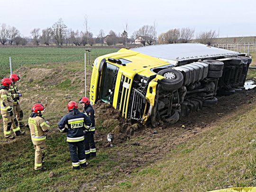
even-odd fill
[[(73, 169), (80, 169), (80, 166), (86, 167), (88, 164), (84, 154), (83, 131), (90, 129), (91, 120), (85, 114), (79, 112), (75, 101), (70, 101), (67, 104), (67, 108), (69, 113), (61, 118), (58, 127), (60, 132), (67, 133), (68, 148)], [(67, 128), (65, 125), (67, 125)]]

